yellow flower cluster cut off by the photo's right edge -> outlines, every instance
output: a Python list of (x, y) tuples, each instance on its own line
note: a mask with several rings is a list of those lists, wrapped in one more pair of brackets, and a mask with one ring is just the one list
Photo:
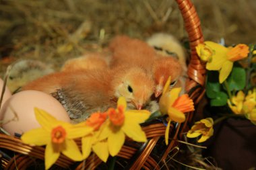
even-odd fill
[(256, 88), (248, 91), (246, 97), (243, 91), (238, 91), (236, 96), (228, 99), (228, 106), (234, 114), (252, 114), (256, 107)]

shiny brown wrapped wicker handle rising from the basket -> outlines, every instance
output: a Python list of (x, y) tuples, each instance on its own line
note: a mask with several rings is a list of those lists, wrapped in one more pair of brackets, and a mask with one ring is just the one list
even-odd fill
[(200, 61), (199, 56), (195, 51), (195, 46), (203, 42), (201, 23), (191, 0), (176, 1), (183, 16), (185, 29), (189, 35), (189, 46), (191, 49), (191, 60), (187, 71), (189, 81), (187, 81), (186, 84), (186, 91), (192, 99), (197, 99), (195, 101), (195, 103), (197, 103), (199, 98), (201, 99), (203, 96), (202, 91), (205, 83), (205, 64)]

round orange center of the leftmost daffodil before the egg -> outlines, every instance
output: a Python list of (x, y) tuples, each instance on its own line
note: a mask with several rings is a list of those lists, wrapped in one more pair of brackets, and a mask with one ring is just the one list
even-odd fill
[(67, 132), (62, 126), (57, 126), (56, 128), (53, 128), (51, 136), (53, 143), (61, 144), (64, 142)]

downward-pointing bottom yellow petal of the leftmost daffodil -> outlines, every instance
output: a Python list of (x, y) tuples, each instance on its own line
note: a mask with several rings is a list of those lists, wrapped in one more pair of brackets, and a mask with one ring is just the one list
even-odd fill
[(45, 169), (49, 169), (59, 158), (60, 153), (55, 152), (53, 148), (52, 142), (49, 142), (49, 144), (46, 145), (45, 153), (44, 153), (44, 164)]

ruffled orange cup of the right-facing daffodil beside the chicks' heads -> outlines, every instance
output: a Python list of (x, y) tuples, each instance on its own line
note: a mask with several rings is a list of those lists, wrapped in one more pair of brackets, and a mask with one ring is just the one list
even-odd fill
[(190, 99), (189, 95), (187, 94), (184, 94), (178, 97), (172, 104), (172, 107), (176, 108), (177, 110), (183, 113), (191, 112), (195, 110), (193, 100)]

